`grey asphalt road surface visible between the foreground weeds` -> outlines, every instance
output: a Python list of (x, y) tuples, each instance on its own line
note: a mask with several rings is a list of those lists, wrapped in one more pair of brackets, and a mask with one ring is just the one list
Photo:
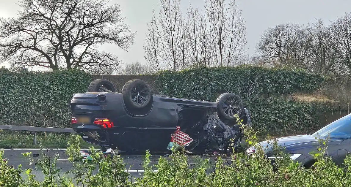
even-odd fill
[[(8, 164), (13, 165), (14, 167), (17, 167), (18, 165), (22, 164), (22, 168), (25, 170), (27, 168), (35, 168), (36, 166), (33, 165), (28, 165), (29, 160), (25, 158), (22, 153), (26, 152), (32, 152), (33, 155), (35, 154), (40, 154), (40, 150), (38, 149), (12, 149), (12, 150), (4, 150), (5, 151), (5, 158), (8, 159)], [(86, 150), (81, 150), (81, 151), (86, 151)], [(72, 164), (67, 160), (67, 155), (65, 154), (64, 149), (49, 149), (48, 152), (45, 150), (45, 153), (48, 154), (53, 158), (53, 155), (56, 153), (59, 153), (60, 158), (57, 161), (57, 167), (62, 168), (59, 175), (63, 176), (66, 174), (70, 169), (72, 169)], [(143, 167), (141, 166), (141, 163), (143, 163), (145, 159), (145, 155), (131, 155), (128, 153), (123, 153), (121, 152), (121, 158), (123, 158), (123, 161), (127, 164), (126, 169), (128, 169), (128, 173), (131, 175), (132, 181), (134, 181), (134, 177), (138, 178), (143, 175)], [(157, 161), (160, 157), (167, 157), (167, 155), (152, 155), (150, 157), (151, 159), (151, 164), (157, 164)], [(188, 155), (188, 163), (194, 163), (195, 160), (195, 155)], [(214, 155), (201, 155), (200, 157), (207, 159), (209, 158), (212, 163), (214, 163), (214, 158), (216, 156)], [(34, 160), (36, 160), (39, 157), (34, 157)], [(224, 159), (229, 159), (229, 158), (224, 158)], [(228, 160), (230, 161), (230, 160)], [(129, 166), (131, 168), (129, 169)], [(97, 171), (95, 171), (96, 173)], [(40, 171), (40, 169), (35, 170), (34, 169), (34, 175), (36, 176), (36, 179), (39, 181), (44, 180), (44, 175)], [(27, 175), (25, 173), (22, 174), (24, 178), (27, 178)], [(68, 175), (72, 176), (72, 175)]]

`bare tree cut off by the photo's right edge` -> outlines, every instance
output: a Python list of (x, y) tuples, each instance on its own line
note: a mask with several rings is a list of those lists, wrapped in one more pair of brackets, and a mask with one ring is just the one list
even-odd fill
[(335, 61), (338, 65), (338, 74), (342, 77), (351, 77), (351, 13), (332, 22), (330, 26), (330, 40), (332, 43)]

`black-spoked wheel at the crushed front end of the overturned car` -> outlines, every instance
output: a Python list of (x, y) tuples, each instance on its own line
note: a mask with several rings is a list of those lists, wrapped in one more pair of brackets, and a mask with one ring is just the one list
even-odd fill
[(244, 109), (240, 97), (233, 93), (221, 94), (216, 103), (218, 115), (228, 120), (236, 120), (235, 115), (239, 116)]

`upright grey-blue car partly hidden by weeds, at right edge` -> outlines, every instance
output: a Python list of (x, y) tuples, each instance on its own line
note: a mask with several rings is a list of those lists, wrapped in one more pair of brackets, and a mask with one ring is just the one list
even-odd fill
[[(289, 136), (277, 138), (277, 140), (278, 144), (282, 146), (282, 150), (285, 148), (284, 151), (290, 154), (292, 160), (298, 161), (308, 168), (315, 162), (310, 153), (316, 151), (316, 147), (319, 146), (318, 139), (325, 140), (327, 137), (329, 139), (324, 156), (330, 157), (338, 165), (342, 164), (346, 155), (351, 152), (351, 114), (335, 120), (313, 134)], [(279, 159), (276, 155), (272, 155), (271, 142), (269, 144), (267, 141), (262, 141), (256, 147), (260, 146), (265, 151), (267, 158)], [(246, 150), (246, 155), (252, 156), (255, 152), (256, 148), (252, 146)]]

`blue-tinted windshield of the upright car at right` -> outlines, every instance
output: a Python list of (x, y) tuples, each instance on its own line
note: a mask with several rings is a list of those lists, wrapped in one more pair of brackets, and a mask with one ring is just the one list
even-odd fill
[(322, 129), (313, 133), (312, 136), (320, 137), (328, 137), (337, 138), (337, 139), (347, 139), (351, 138), (351, 114), (344, 116), (335, 122), (326, 125)]

